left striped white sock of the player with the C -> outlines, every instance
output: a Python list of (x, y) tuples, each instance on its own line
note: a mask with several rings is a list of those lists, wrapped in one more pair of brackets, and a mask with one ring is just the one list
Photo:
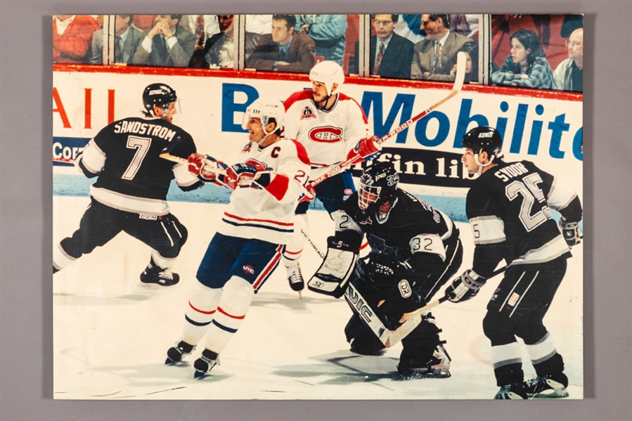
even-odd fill
[(199, 282), (195, 283), (184, 311), (186, 320), (182, 329), (184, 342), (191, 345), (200, 342), (200, 339), (209, 329), (215, 313), (217, 313), (221, 292), (221, 288), (209, 288)]

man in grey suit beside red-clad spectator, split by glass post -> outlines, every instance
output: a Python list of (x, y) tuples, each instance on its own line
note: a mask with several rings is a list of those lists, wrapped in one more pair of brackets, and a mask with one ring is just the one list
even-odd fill
[[(114, 63), (131, 64), (138, 44), (143, 41), (143, 31), (131, 25), (133, 21), (134, 15), (116, 15), (114, 18)], [(94, 32), (91, 51), (90, 63), (103, 64), (103, 30)]]

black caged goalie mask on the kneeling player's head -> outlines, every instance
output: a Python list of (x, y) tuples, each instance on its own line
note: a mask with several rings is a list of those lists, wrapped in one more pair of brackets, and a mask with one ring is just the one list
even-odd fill
[(395, 195), (399, 174), (391, 162), (374, 162), (360, 177), (358, 206), (362, 210), (370, 205), (381, 206)]

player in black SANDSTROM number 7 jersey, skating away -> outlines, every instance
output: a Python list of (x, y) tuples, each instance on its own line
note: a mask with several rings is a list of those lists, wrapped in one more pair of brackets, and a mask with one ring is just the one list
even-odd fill
[(170, 268), (187, 231), (169, 212), (167, 191), (174, 178), (184, 191), (202, 186), (186, 162), (174, 164), (159, 157), (165, 148), (183, 158), (196, 152), (191, 135), (172, 124), (178, 101), (170, 86), (150, 84), (143, 91), (144, 117), (108, 124), (77, 157), (75, 167), (97, 179), (90, 186), (91, 202), (79, 229), (53, 247), (53, 273), (124, 231), (152, 249), (141, 273), (143, 283), (178, 283), (178, 274)]

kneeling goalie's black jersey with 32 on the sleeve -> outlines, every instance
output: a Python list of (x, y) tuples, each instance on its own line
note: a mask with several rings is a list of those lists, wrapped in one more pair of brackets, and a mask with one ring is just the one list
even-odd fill
[(366, 234), (370, 253), (380, 253), (396, 261), (408, 261), (415, 268), (413, 255), (438, 256), (446, 260), (446, 243), (458, 240), (452, 220), (424, 200), (397, 189), (388, 214), (380, 217), (375, 207), (364, 212), (354, 193), (336, 214), (336, 231)]

